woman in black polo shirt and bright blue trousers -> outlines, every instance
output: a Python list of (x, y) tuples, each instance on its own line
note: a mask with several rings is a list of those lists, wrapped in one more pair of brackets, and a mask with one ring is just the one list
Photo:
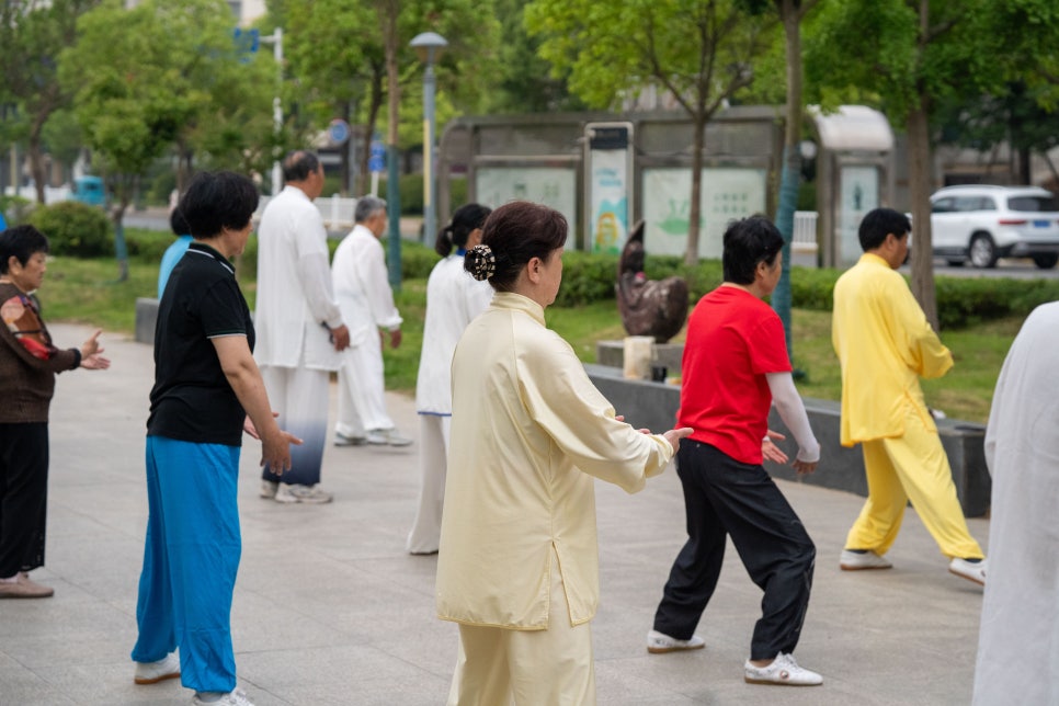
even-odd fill
[(136, 683), (181, 676), (195, 704), (250, 704), (236, 688), (229, 619), (242, 548), (242, 432), (261, 440), (262, 464), (273, 469), (288, 469), (289, 445), (301, 443), (273, 418), (253, 361), (250, 309), (228, 262), (246, 247), (257, 207), (246, 176), (195, 176), (178, 205), (195, 241), (170, 275), (155, 330), (150, 514), (132, 657)]

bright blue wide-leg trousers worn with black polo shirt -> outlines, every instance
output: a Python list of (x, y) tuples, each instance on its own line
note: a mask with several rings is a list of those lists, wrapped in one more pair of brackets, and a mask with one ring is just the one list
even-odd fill
[(181, 683), (196, 692), (236, 687), (231, 596), (242, 551), (238, 446), (147, 437), (147, 542), (133, 660), (180, 647)]

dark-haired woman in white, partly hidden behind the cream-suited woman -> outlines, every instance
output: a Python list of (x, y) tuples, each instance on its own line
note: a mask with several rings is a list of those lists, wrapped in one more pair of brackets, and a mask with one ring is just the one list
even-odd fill
[(421, 485), (419, 510), (406, 545), (409, 554), (435, 554), (441, 538), (453, 417), (453, 352), (467, 324), (492, 300), (492, 287), (464, 270), (464, 257), (481, 242), (481, 227), (490, 213), (491, 208), (480, 204), (460, 206), (434, 243), (443, 260), (426, 280), (426, 320), (415, 380)]

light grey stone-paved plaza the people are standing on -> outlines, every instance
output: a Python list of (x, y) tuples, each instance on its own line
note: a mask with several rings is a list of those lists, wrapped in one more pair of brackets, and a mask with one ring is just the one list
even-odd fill
[[(62, 346), (89, 332), (53, 329)], [(0, 601), (0, 706), (191, 701), (179, 680), (133, 683), (151, 348), (105, 333), (103, 344), (113, 361), (109, 372), (58, 378), (47, 563), (33, 573), (55, 588), (55, 597)], [(333, 392), (332, 385), (332, 405)], [(414, 437), (412, 400), (388, 395), (387, 401), (401, 431)], [(418, 444), (330, 446), (323, 485), (334, 502), (281, 505), (258, 498), (260, 446), (247, 439), (232, 637), (240, 686), (258, 706), (444, 704), (457, 628), (434, 617), (436, 557), (405, 553), (418, 453)], [(654, 607), (685, 538), (680, 481), (670, 468), (636, 496), (596, 485), (602, 599), (592, 630), (600, 705), (968, 704), (982, 590), (947, 572), (912, 511), (888, 555), (892, 570), (840, 571), (839, 553), (862, 499), (779, 485), (817, 543), (796, 656), (823, 674), (823, 686), (743, 683), (761, 593), (730, 545), (698, 628), (706, 649), (647, 652)], [(984, 543), (988, 521), (969, 524)]]

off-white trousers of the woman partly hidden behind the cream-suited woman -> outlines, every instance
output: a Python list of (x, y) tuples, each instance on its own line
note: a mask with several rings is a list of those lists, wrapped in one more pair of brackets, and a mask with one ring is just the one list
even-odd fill
[(447, 414), (419, 415), (419, 510), (405, 545), (412, 554), (437, 551), (452, 420)]

